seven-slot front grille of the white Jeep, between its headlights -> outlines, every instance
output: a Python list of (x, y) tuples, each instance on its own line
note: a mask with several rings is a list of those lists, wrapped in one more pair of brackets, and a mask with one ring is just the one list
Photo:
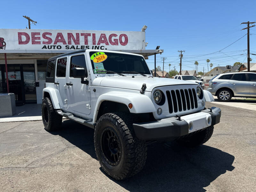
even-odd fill
[(169, 113), (197, 108), (195, 89), (176, 89), (166, 91)]

